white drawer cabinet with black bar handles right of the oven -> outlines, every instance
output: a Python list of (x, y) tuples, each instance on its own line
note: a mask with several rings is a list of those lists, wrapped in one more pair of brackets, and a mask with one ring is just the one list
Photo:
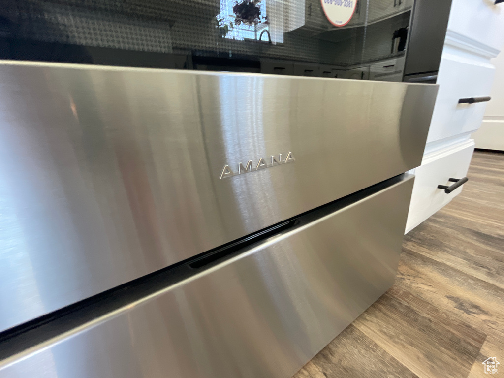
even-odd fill
[[(493, 3), (494, 0), (453, 0), (437, 77), (439, 91), (424, 158), (414, 171), (416, 179), (406, 232), (447, 205), (463, 190), (462, 186), (446, 194), (437, 189), (437, 185), (451, 185), (449, 178), (466, 175), (475, 146), (469, 139), (470, 134), (480, 127), (486, 106), (499, 109), (504, 135), (502, 101), (497, 103), (492, 98), (490, 102), (459, 104), (464, 98), (483, 100), (483, 97), (492, 97), (495, 67), (490, 59), (497, 56), (504, 43), (504, 3)], [(504, 87), (504, 67), (501, 87)], [(504, 90), (502, 97), (504, 99)], [(497, 122), (487, 123), (490, 133), (486, 136), (478, 132), (473, 134), (476, 147), (490, 146), (487, 143), (500, 131)]]

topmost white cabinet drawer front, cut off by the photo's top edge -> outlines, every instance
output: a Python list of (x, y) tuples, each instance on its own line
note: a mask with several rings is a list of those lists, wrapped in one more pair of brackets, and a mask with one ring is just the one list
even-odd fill
[(504, 43), (504, 4), (493, 3), (494, 0), (453, 0), (447, 36), (455, 32), (459, 34), (455, 38), (462, 43), (476, 41), (497, 55)]

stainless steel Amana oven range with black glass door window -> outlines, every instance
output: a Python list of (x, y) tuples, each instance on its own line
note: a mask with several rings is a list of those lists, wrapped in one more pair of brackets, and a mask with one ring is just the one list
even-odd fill
[(0, 377), (288, 378), (379, 298), (439, 63), (380, 1), (8, 1)]

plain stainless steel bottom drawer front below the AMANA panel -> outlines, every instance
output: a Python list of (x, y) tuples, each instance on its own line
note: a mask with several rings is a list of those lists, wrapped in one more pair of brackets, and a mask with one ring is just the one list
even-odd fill
[(8, 357), (0, 376), (290, 377), (393, 284), (412, 186), (407, 175)]

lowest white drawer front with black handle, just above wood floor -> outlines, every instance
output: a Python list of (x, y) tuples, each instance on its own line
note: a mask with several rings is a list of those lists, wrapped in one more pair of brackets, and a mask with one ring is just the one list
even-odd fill
[(449, 182), (449, 178), (465, 177), (473, 151), (474, 141), (468, 140), (424, 157), (422, 165), (415, 169), (416, 178), (406, 222), (406, 233), (447, 205), (462, 191), (463, 186), (446, 194), (444, 190), (438, 189), (437, 185), (451, 185), (453, 182)]

